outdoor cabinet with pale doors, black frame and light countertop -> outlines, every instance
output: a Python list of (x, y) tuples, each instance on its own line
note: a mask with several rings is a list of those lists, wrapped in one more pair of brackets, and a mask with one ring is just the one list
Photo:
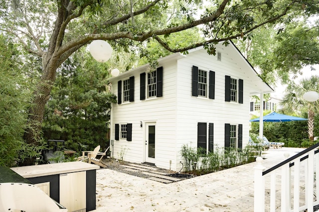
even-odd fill
[(47, 185), (46, 193), (69, 212), (89, 212), (96, 209), (96, 170), (99, 168), (74, 161), (11, 169), (31, 183), (40, 184), (40, 188)]

